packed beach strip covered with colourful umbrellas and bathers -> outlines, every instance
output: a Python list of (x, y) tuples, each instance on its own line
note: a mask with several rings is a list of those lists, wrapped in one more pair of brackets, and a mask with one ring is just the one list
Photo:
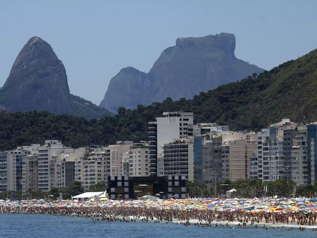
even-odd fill
[[(237, 226), (316, 226), (317, 203), (310, 200), (93, 200), (87, 202), (3, 201), (0, 212), (52, 214), (116, 221), (144, 219), (144, 222), (226, 223)], [(198, 223), (197, 223), (198, 224)]]

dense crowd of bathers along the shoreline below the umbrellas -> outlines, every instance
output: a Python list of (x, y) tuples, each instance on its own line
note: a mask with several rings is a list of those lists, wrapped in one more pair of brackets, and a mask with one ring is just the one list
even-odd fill
[[(176, 222), (188, 226), (191, 221), (197, 226), (211, 226), (216, 222), (239, 223), (237, 226), (251, 225), (257, 228), (258, 224), (275, 223), (293, 224), (300, 226), (315, 226), (316, 213), (250, 213), (244, 211), (215, 211), (215, 210), (178, 210), (158, 209), (141, 207), (40, 207), (40, 206), (0, 206), (1, 213), (23, 213), (23, 214), (50, 214), (86, 217), (96, 221), (126, 221), (135, 222)], [(228, 225), (228, 223), (224, 223)], [(224, 225), (222, 224), (222, 225)]]

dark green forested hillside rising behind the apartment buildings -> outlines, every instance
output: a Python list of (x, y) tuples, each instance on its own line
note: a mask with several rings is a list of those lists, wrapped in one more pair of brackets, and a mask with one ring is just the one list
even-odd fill
[(259, 76), (253, 74), (234, 83), (184, 98), (130, 110), (120, 107), (115, 116), (99, 120), (55, 115), (49, 112), (0, 113), (0, 150), (12, 149), (45, 139), (59, 139), (65, 145), (111, 144), (117, 140), (146, 140), (147, 122), (164, 111), (192, 111), (194, 122), (217, 122), (259, 130), (282, 117), (294, 122), (317, 120), (317, 50), (281, 64)]

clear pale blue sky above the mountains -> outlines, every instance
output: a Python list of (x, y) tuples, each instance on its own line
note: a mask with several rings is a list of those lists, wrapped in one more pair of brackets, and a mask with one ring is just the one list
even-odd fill
[(236, 36), (237, 58), (271, 69), (317, 48), (317, 1), (0, 1), (0, 87), (32, 36), (63, 62), (70, 93), (99, 105), (121, 68), (148, 72), (177, 37)]

